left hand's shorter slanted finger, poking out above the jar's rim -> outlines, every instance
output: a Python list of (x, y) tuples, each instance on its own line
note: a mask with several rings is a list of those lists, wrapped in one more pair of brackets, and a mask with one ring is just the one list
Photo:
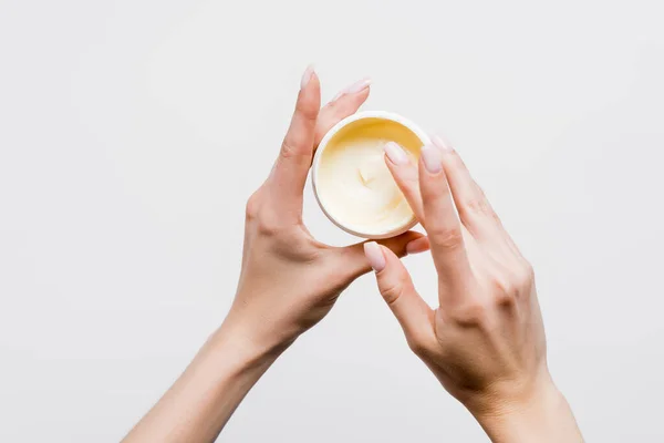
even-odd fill
[(363, 79), (340, 92), (336, 97), (323, 106), (315, 126), (314, 147), (318, 147), (332, 126), (357, 112), (369, 97), (370, 86), (371, 80)]

